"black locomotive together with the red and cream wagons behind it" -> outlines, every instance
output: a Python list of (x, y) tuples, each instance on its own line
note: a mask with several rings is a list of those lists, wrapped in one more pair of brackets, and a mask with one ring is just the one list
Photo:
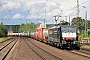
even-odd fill
[(30, 35), (39, 41), (59, 47), (61, 49), (80, 49), (78, 30), (75, 26), (53, 26), (49, 29), (40, 28)]

